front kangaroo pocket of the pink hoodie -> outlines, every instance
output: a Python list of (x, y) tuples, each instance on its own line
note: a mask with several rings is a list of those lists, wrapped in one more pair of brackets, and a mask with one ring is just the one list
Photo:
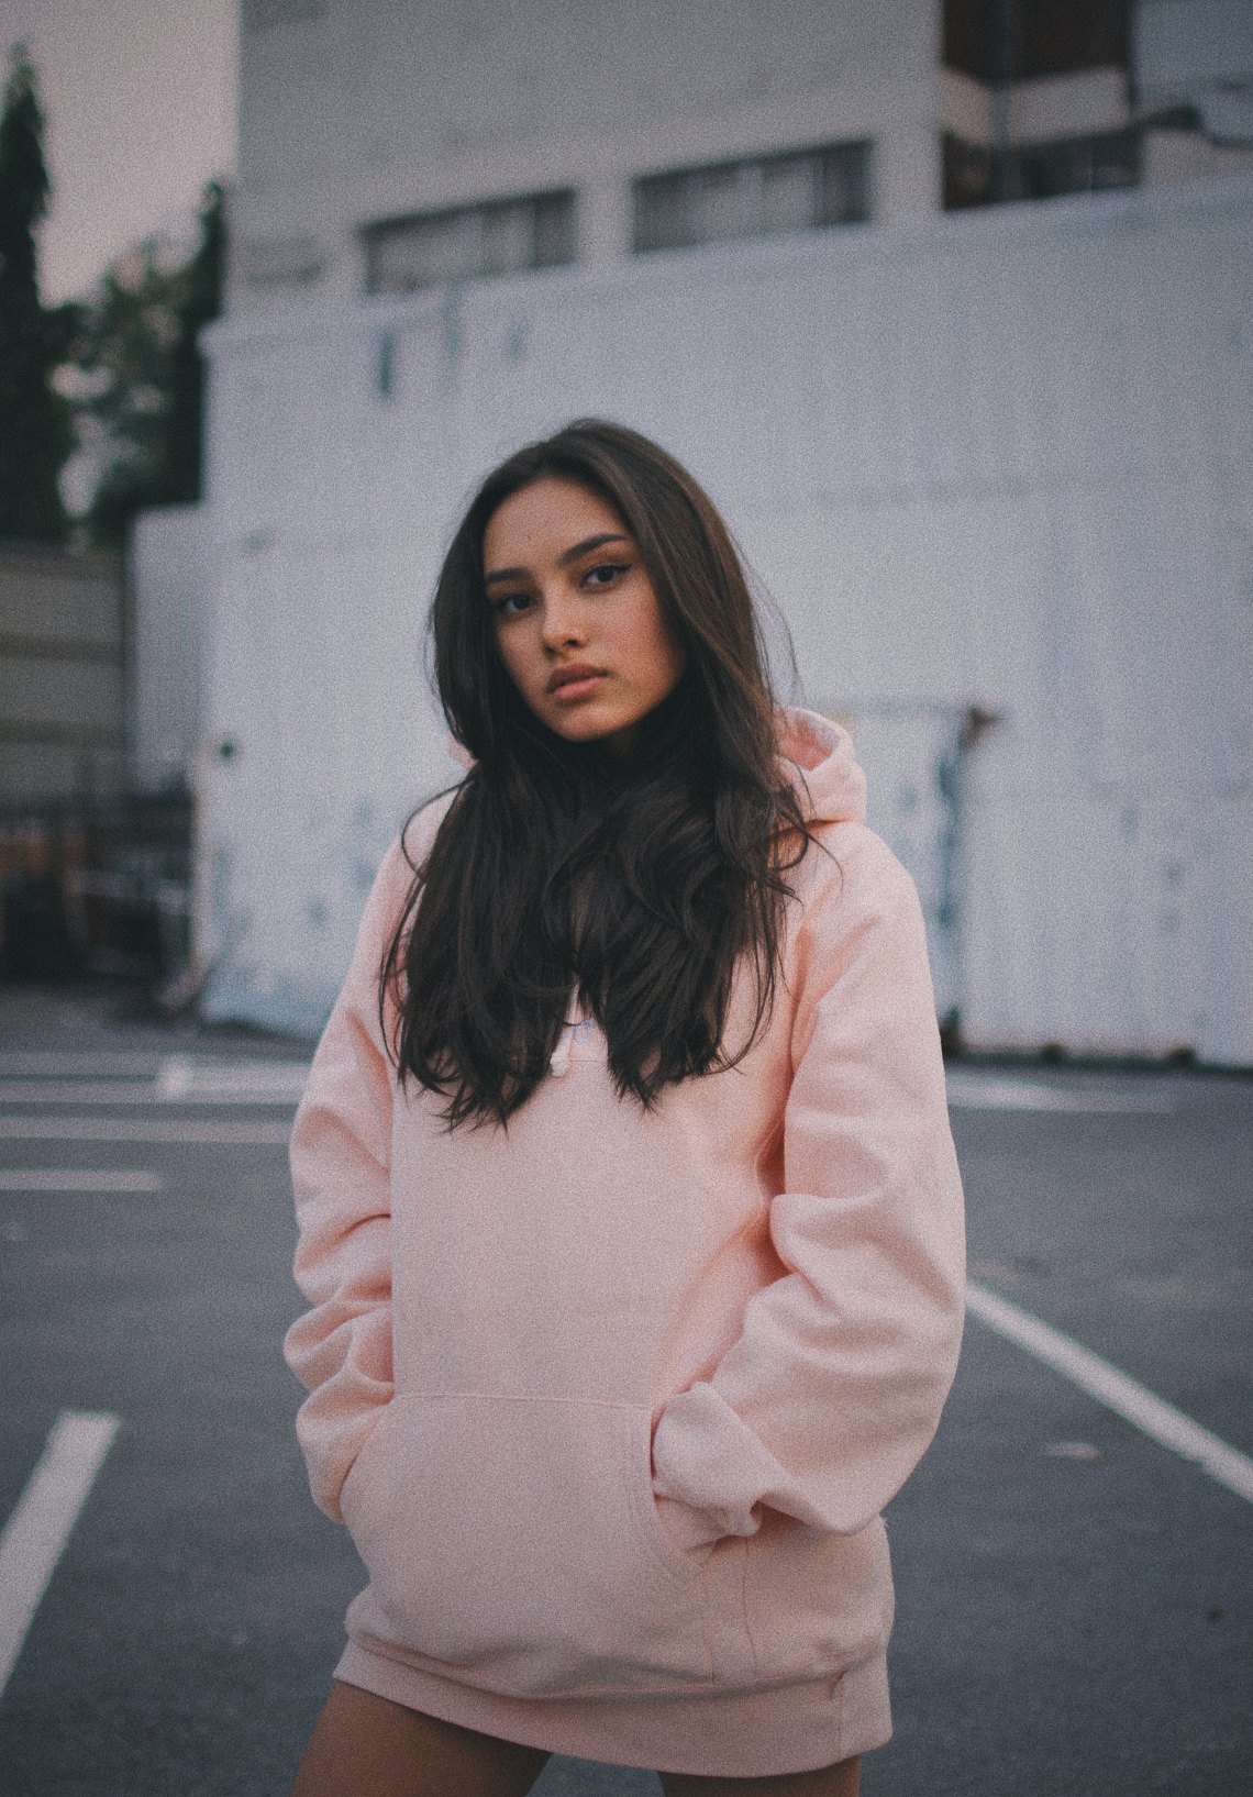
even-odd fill
[(701, 1569), (662, 1529), (622, 1403), (394, 1398), (342, 1509), (388, 1639), (502, 1691), (708, 1684)]

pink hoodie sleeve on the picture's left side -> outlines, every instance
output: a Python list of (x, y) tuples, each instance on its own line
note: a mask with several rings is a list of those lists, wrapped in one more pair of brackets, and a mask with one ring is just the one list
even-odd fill
[(379, 1030), (379, 969), (412, 870), (387, 852), (352, 963), (318, 1042), (291, 1130), (297, 1285), (311, 1308), (284, 1341), (307, 1385), (297, 1436), (315, 1502), (336, 1522), (340, 1488), (392, 1396), (392, 1076)]

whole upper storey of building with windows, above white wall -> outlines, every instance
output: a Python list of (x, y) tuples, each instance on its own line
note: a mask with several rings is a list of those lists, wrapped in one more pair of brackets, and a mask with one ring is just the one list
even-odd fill
[(230, 311), (1253, 167), (1240, 0), (244, 0)]

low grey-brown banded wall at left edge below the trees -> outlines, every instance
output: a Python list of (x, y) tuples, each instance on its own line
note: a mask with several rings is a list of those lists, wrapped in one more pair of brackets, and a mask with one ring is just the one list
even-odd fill
[(120, 791), (124, 668), (120, 561), (0, 544), (0, 809)]

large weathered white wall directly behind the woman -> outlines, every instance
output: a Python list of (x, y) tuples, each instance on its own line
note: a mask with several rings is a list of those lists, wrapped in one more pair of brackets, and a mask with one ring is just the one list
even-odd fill
[(210, 1008), (329, 1006), (455, 776), (419, 640), (458, 510), (599, 412), (726, 510), (931, 898), (937, 746), (1000, 719), (933, 936), (967, 1040), (1253, 1062), (1251, 259), (1231, 181), (218, 327)]

